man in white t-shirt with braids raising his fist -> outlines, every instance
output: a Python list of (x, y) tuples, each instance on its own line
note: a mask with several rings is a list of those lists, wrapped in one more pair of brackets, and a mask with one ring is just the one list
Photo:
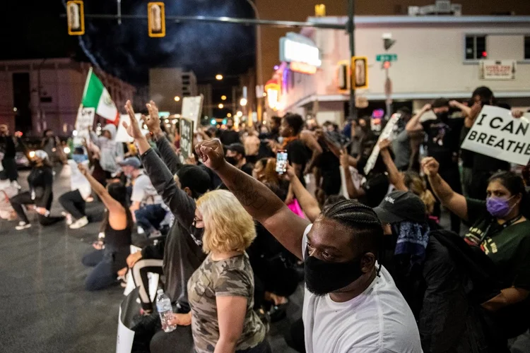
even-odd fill
[(341, 201), (310, 225), (264, 184), (226, 162), (220, 141), (199, 143), (196, 152), (252, 217), (304, 259), (306, 352), (422, 352), (411, 309), (377, 263), (383, 229), (371, 208)]

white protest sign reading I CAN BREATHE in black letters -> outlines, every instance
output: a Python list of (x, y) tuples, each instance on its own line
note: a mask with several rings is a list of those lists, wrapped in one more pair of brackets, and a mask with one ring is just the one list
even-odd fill
[(508, 109), (485, 105), (461, 148), (526, 165), (530, 160), (530, 116), (516, 119)]

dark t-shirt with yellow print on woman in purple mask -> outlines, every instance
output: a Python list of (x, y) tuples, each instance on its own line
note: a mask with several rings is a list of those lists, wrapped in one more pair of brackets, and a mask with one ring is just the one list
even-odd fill
[[(469, 222), (466, 243), (480, 249), (497, 265), (506, 287), (530, 290), (530, 221), (499, 225), (484, 201), (466, 199)], [(483, 241), (484, 233), (490, 227)]]

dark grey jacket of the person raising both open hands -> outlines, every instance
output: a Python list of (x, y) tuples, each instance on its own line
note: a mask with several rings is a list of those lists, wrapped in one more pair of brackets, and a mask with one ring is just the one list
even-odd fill
[(204, 261), (206, 254), (202, 251), (202, 243), (198, 241), (201, 244), (197, 244), (190, 236), (190, 227), (195, 217), (195, 201), (179, 189), (173, 179), (182, 163), (166, 138), (159, 138), (156, 145), (162, 160), (155, 150), (150, 149), (141, 155), (141, 162), (156, 191), (175, 215), (175, 222), (167, 239), (156, 245), (146, 246), (142, 250), (142, 257), (163, 259), (165, 293), (172, 302), (177, 301), (183, 308), (189, 309), (187, 282)]

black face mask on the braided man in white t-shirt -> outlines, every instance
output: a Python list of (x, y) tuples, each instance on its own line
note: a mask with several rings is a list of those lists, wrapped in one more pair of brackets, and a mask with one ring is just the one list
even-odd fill
[(309, 255), (305, 251), (305, 285), (319, 297), (346, 287), (364, 275), (360, 262), (363, 256), (347, 263), (329, 263)]

